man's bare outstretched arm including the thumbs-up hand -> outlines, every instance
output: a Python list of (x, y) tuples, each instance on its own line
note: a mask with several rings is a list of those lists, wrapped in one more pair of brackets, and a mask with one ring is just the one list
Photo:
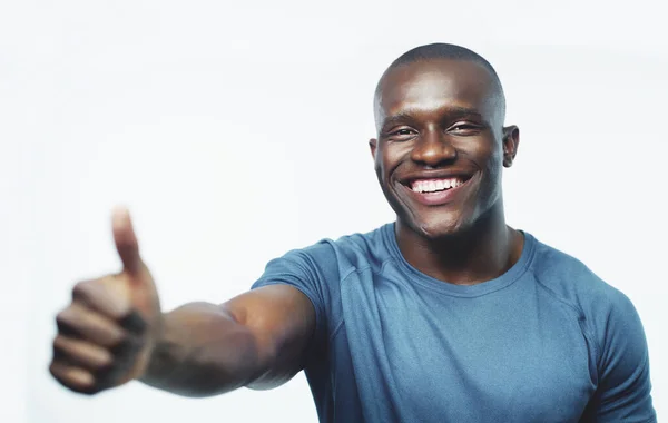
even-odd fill
[(114, 239), (122, 272), (77, 284), (56, 317), (49, 371), (63, 386), (95, 394), (140, 380), (206, 396), (276, 386), (302, 368), (316, 317), (299, 289), (272, 285), (163, 314), (127, 210), (114, 215)]

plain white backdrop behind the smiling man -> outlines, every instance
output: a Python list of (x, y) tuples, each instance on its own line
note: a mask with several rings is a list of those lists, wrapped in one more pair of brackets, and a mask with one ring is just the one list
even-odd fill
[(372, 94), (395, 57), (434, 41), (497, 67), (521, 129), (508, 220), (633, 301), (668, 415), (661, 2), (500, 3), (2, 2), (0, 421), (315, 421), (302, 375), (209, 400), (69, 393), (47, 371), (53, 317), (76, 281), (117, 270), (119, 203), (166, 308), (223, 302), (287, 249), (390, 222)]

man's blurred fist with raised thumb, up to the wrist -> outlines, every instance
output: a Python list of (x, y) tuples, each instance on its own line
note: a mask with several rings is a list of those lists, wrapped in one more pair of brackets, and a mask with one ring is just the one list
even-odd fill
[(58, 314), (49, 371), (66, 387), (86, 394), (140, 377), (161, 329), (156, 285), (139, 255), (126, 209), (112, 217), (122, 272), (78, 283)]

